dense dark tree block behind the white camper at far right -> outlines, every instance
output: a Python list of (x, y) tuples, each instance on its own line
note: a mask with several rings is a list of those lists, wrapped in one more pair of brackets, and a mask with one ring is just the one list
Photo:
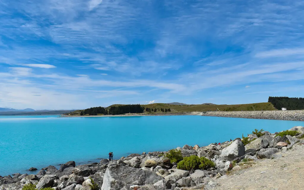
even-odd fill
[(287, 110), (304, 109), (304, 98), (289, 98), (289, 97), (269, 97), (268, 102), (271, 102), (276, 109), (286, 108)]

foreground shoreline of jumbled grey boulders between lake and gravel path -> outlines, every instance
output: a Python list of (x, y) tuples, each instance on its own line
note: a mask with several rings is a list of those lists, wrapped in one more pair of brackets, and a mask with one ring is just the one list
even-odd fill
[[(168, 152), (130, 154), (119, 160), (101, 160), (99, 163), (76, 165), (74, 161), (42, 168), (34, 174), (12, 174), (0, 176), (0, 190), (22, 190), (29, 184), (46, 190), (184, 190), (216, 188), (217, 179), (231, 172), (249, 168), (262, 159), (276, 159), (296, 144), (304, 143), (304, 127), (295, 126), (294, 136), (261, 132), (261, 136), (248, 134), (243, 139), (209, 144), (205, 147), (185, 145), (174, 152), (181, 154), (182, 161), (176, 163)], [(247, 141), (247, 143), (245, 143)], [(246, 145), (244, 145), (244, 143)], [(170, 154), (169, 154), (170, 153)], [(166, 155), (171, 155), (166, 157)], [(178, 169), (188, 158), (202, 159), (209, 163), (190, 170)], [(203, 163), (202, 163), (203, 164)], [(31, 168), (34, 170), (35, 168)], [(23, 189), (24, 190), (24, 189)]]

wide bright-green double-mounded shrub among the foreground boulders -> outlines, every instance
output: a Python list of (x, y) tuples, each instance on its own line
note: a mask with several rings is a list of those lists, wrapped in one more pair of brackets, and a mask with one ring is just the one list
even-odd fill
[(202, 169), (206, 170), (215, 167), (215, 164), (208, 158), (192, 155), (189, 157), (184, 157), (184, 159), (177, 164), (177, 168), (181, 170), (192, 170), (192, 169)]

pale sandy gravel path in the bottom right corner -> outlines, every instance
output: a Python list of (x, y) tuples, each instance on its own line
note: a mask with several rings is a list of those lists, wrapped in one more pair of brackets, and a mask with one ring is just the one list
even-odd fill
[(294, 145), (283, 157), (258, 161), (251, 168), (216, 180), (216, 190), (304, 189), (304, 146)]

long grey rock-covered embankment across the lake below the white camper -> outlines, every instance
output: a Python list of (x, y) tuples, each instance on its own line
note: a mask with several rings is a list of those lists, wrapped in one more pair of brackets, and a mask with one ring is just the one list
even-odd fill
[(249, 119), (277, 119), (304, 121), (304, 110), (293, 111), (241, 111), (241, 112), (203, 112), (202, 116), (239, 117)]

